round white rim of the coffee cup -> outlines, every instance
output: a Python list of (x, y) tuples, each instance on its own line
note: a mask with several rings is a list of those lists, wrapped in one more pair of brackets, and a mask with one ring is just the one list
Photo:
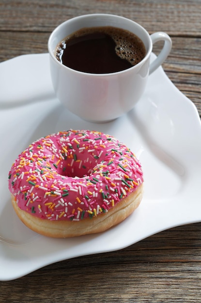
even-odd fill
[[(115, 18), (119, 18), (119, 19), (122, 19), (122, 20), (126, 20), (128, 22), (132, 22), (134, 23), (136, 26), (138, 26), (141, 30), (143, 30), (146, 35), (147, 35), (147, 38), (149, 40), (149, 47), (148, 47), (148, 50), (147, 50), (147, 53), (145, 55), (145, 57), (139, 62), (137, 63), (136, 65), (132, 66), (132, 67), (129, 67), (123, 71), (119, 71), (119, 72), (114, 72), (114, 73), (105, 73), (105, 74), (95, 74), (95, 73), (86, 73), (86, 72), (81, 72), (81, 71), (77, 71), (75, 69), (72, 69), (64, 64), (62, 64), (62, 62), (58, 61), (56, 59), (56, 57), (54, 56), (54, 51), (52, 51), (52, 48), (50, 47), (51, 45), (51, 42), (52, 42), (52, 39), (55, 37), (56, 33), (63, 27), (65, 26), (67, 23), (69, 23), (71, 20), (76, 20), (76, 19), (81, 19), (81, 18), (87, 18), (87, 17), (103, 17), (103, 16), (111, 16), (111, 17), (115, 17)], [(115, 27), (115, 26), (114, 26)], [(121, 27), (120, 27), (121, 28)], [(80, 28), (81, 29), (81, 28)], [(64, 37), (63, 37), (64, 38)], [(59, 43), (60, 41), (58, 41), (57, 43)], [(138, 69), (140, 68), (145, 61), (147, 61), (147, 59), (150, 57), (150, 54), (152, 52), (152, 47), (153, 47), (153, 44), (152, 44), (152, 39), (150, 37), (150, 34), (148, 33), (148, 31), (143, 27), (141, 26), (139, 23), (129, 19), (129, 18), (126, 18), (124, 16), (121, 16), (121, 15), (114, 15), (114, 14), (86, 14), (86, 15), (79, 15), (79, 16), (75, 16), (75, 17), (72, 17), (70, 19), (67, 19), (65, 21), (63, 21), (62, 23), (60, 23), (50, 34), (49, 38), (48, 38), (48, 42), (47, 42), (47, 48), (48, 48), (48, 53), (50, 55), (50, 57), (53, 59), (53, 61), (55, 63), (57, 63), (60, 67), (66, 69), (66, 70), (69, 70), (71, 72), (74, 72), (76, 74), (79, 74), (79, 75), (85, 75), (85, 76), (116, 76), (116, 75), (120, 75), (120, 74), (123, 74), (123, 73), (128, 73), (129, 71), (131, 70), (134, 70), (134, 69)]]

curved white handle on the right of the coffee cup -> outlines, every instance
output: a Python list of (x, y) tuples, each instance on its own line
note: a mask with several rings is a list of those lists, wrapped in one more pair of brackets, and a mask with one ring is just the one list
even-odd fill
[(152, 39), (153, 44), (155, 44), (158, 41), (164, 41), (164, 45), (161, 52), (155, 59), (155, 61), (153, 61), (150, 64), (149, 75), (151, 75), (156, 70), (156, 68), (158, 68), (166, 60), (166, 58), (170, 54), (171, 45), (172, 45), (169, 35), (165, 32), (158, 31), (151, 34), (150, 37)]

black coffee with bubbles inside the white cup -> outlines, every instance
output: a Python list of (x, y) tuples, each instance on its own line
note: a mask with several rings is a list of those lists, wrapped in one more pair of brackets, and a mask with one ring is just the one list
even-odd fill
[(139, 63), (145, 54), (139, 37), (114, 27), (78, 30), (64, 38), (55, 51), (62, 64), (93, 74), (123, 71)]

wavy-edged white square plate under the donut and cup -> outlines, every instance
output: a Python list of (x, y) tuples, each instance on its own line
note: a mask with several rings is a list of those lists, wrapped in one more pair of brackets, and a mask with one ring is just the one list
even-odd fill
[[(34, 140), (69, 128), (98, 130), (124, 142), (142, 164), (145, 193), (131, 216), (104, 233), (46, 238), (16, 216), (8, 172)], [(2, 62), (0, 145), (0, 280), (60, 260), (122, 249), (164, 229), (201, 221), (200, 117), (161, 67), (149, 77), (133, 110), (112, 122), (92, 123), (71, 114), (55, 97), (48, 54)]]

